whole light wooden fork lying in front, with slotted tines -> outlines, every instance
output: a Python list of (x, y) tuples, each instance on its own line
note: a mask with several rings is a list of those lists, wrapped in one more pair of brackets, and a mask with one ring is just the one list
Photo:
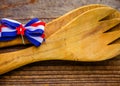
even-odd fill
[(46, 39), (41, 47), (0, 54), (0, 74), (43, 60), (101, 61), (119, 54), (120, 44), (111, 44), (120, 31), (103, 33), (120, 23), (120, 18), (103, 20), (115, 12), (109, 7), (79, 15)]

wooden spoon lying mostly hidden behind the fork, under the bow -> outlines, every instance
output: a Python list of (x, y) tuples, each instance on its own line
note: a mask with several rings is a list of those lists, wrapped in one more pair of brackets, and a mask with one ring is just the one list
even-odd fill
[[(90, 9), (94, 9), (94, 8), (98, 8), (98, 7), (105, 7), (105, 6), (100, 5), (100, 4), (92, 4), (92, 5), (83, 6), (83, 7), (77, 8), (73, 11), (70, 11), (69, 13), (47, 23), (46, 27), (45, 27), (46, 37), (49, 37), (51, 34), (53, 34), (58, 29), (60, 29), (64, 25), (66, 25), (68, 22), (70, 22), (72, 19), (74, 19), (78, 15), (80, 15), (80, 14), (82, 14)], [(27, 39), (25, 39), (25, 43), (30, 44), (30, 42), (27, 41)], [(13, 46), (13, 45), (20, 45), (20, 44), (23, 44), (23, 43), (22, 43), (21, 37), (18, 37), (12, 41), (0, 42), (0, 48)]]

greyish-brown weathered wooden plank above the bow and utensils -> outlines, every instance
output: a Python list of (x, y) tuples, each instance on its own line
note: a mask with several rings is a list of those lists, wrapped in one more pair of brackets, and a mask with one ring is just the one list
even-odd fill
[(72, 9), (90, 3), (103, 3), (120, 9), (119, 0), (2, 0), (0, 3), (0, 9), (2, 11), (0, 15), (1, 17), (17, 20), (26, 20), (34, 17), (56, 18)]

